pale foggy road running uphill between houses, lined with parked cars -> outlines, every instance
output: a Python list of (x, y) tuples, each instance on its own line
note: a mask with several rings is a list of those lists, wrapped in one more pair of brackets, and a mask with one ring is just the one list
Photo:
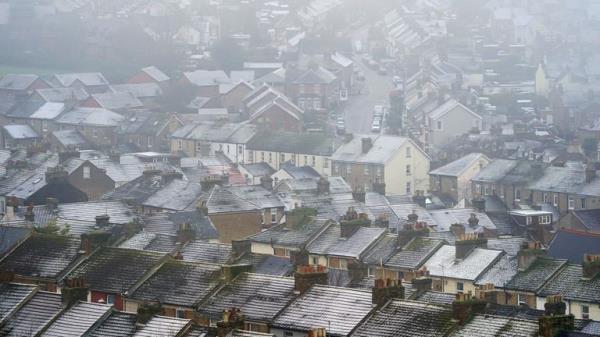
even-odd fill
[[(364, 26), (350, 35), (353, 39), (364, 41), (366, 32), (367, 27)], [(388, 95), (393, 89), (392, 79), (390, 75), (379, 75), (376, 71), (368, 68), (362, 62), (360, 55), (355, 56), (353, 60), (365, 75), (365, 86), (360, 95), (350, 96), (342, 109), (346, 132), (371, 133), (373, 107), (378, 104), (389, 104)]]

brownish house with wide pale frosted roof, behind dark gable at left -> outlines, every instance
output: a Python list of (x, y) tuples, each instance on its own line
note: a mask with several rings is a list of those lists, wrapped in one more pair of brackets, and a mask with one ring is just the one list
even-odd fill
[(115, 130), (125, 118), (103, 108), (75, 108), (62, 114), (56, 123), (60, 130), (78, 130), (96, 146), (115, 145)]

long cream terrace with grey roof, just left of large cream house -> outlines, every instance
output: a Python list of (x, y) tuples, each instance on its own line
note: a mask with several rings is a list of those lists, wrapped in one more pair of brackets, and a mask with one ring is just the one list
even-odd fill
[(337, 140), (323, 133), (290, 133), (263, 131), (246, 144), (244, 163), (268, 163), (275, 170), (287, 163), (310, 166), (320, 175), (331, 175), (329, 157)]

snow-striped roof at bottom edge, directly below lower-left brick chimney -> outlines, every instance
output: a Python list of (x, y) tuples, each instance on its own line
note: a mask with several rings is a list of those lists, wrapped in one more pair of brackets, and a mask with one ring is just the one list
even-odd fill
[(100, 320), (106, 318), (112, 306), (79, 302), (60, 315), (41, 335), (43, 337), (83, 336)]

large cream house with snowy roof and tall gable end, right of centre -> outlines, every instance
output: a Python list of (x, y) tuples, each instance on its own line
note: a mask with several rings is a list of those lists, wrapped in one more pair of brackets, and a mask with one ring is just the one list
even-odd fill
[(333, 176), (354, 190), (412, 195), (429, 191), (429, 156), (409, 138), (355, 135), (331, 155)]

